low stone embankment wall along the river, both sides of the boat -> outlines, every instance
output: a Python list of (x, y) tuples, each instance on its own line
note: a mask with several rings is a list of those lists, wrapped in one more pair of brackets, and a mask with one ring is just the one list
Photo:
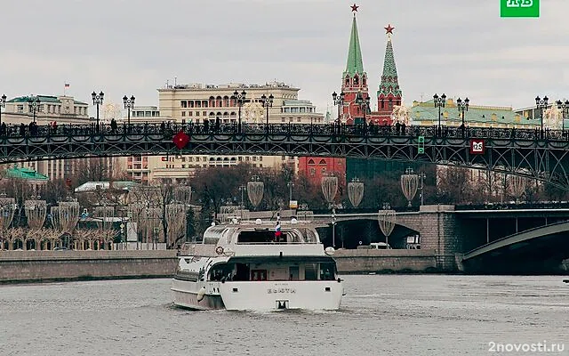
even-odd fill
[[(337, 250), (341, 274), (437, 272), (429, 250)], [(0, 283), (65, 280), (168, 278), (176, 250), (2, 251)]]

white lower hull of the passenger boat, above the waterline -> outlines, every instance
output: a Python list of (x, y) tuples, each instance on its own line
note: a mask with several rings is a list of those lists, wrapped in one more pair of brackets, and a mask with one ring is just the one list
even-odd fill
[[(201, 287), (206, 293), (197, 301)], [(340, 308), (343, 283), (337, 280), (191, 282), (173, 279), (174, 304), (196, 310), (274, 311)]]

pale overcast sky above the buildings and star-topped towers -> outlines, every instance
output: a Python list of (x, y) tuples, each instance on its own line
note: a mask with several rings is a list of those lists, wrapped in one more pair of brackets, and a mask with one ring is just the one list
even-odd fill
[[(178, 84), (277, 80), (319, 111), (340, 92), (353, 1), (2, 0), (0, 94), (68, 94), (157, 105)], [(501, 19), (500, 0), (361, 0), (360, 44), (370, 93), (386, 36), (404, 101), (433, 93), (471, 104), (531, 106), (569, 98), (569, 1), (541, 0), (539, 19)], [(335, 111), (333, 111), (335, 112)], [(91, 109), (91, 115), (94, 110)]]

